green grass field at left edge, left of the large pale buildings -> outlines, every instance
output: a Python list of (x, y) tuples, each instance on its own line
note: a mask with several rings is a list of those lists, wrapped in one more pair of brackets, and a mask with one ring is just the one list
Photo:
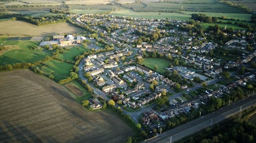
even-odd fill
[[(0, 40), (5, 40), (1, 38)], [(42, 49), (31, 49), (37, 47), (36, 41), (6, 41), (3, 45), (16, 45), (20, 49), (10, 50), (0, 55), (0, 65), (14, 64), (14, 63), (33, 63), (44, 59), (49, 53), (45, 53)]]

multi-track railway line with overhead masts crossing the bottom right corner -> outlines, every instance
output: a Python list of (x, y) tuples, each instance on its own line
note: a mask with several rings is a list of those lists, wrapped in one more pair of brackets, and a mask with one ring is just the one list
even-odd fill
[(171, 130), (163, 132), (161, 135), (148, 139), (148, 143), (155, 142), (170, 142), (170, 136), (172, 136), (172, 142), (178, 141), (188, 135), (191, 135), (197, 131), (200, 131), (208, 126), (214, 125), (223, 121), (231, 116), (237, 116), (236, 113), (240, 111), (242, 106), (242, 110), (250, 107), (252, 105), (256, 105), (256, 96), (250, 96), (246, 99), (239, 100), (234, 102), (230, 106), (225, 106), (215, 112), (209, 113), (208, 115), (175, 127)]

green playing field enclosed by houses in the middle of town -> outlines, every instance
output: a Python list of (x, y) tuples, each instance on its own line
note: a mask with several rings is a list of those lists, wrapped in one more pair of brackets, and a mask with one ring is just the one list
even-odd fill
[(152, 70), (154, 70), (155, 65), (157, 65), (157, 72), (163, 74), (165, 72), (165, 68), (170, 65), (170, 62), (160, 58), (147, 58), (141, 63), (141, 65)]

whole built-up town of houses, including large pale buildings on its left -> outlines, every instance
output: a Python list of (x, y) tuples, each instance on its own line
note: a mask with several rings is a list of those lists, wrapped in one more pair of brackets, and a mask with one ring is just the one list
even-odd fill
[[(152, 136), (157, 130), (180, 124), (178, 120), (182, 117), (193, 119), (193, 116), (213, 110), (202, 108), (211, 97), (223, 99), (237, 87), (250, 88), (248, 84), (255, 82), (255, 69), (241, 71), (256, 56), (256, 51), (243, 50), (248, 45), (246, 35), (232, 35), (230, 41), (219, 46), (220, 43), (206, 40), (196, 32), (177, 30), (179, 26), (188, 25), (187, 21), (94, 14), (73, 14), (69, 17), (80, 26), (90, 24), (88, 28), (100, 33), (103, 40), (98, 40), (98, 35), (88, 38), (58, 35), (53, 36), (55, 41), (43, 41), (40, 46), (70, 46), (81, 44), (86, 39), (90, 39), (91, 44), (96, 41), (112, 43), (114, 51), (82, 59), (80, 78), (88, 81), (100, 98), (118, 103)], [(162, 29), (167, 22), (177, 28)], [(240, 31), (241, 34), (244, 32)], [(142, 33), (152, 35), (152, 40), (141, 37)], [(228, 33), (225, 35), (229, 36)], [(251, 33), (249, 38), (254, 36), (255, 33)], [(197, 43), (193, 42), (195, 40)], [(93, 46), (89, 44), (89, 47)], [(236, 58), (225, 58), (227, 53), (214, 56), (220, 47), (227, 51), (236, 49), (230, 54)], [(161, 63), (153, 67), (143, 64), (148, 57), (170, 62), (164, 72), (158, 72)], [(100, 101), (102, 99), (90, 99), (91, 109), (101, 108)], [(185, 119), (180, 122), (185, 122)]]

